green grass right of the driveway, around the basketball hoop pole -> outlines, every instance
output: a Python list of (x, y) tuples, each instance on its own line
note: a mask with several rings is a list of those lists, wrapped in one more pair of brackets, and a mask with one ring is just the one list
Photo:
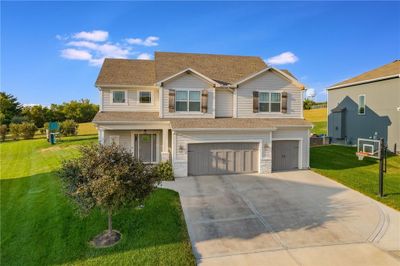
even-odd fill
[(400, 156), (389, 156), (384, 175), (385, 197), (378, 197), (379, 161), (364, 158), (359, 161), (356, 148), (319, 146), (311, 148), (311, 169), (343, 185), (355, 189), (390, 207), (400, 210)]

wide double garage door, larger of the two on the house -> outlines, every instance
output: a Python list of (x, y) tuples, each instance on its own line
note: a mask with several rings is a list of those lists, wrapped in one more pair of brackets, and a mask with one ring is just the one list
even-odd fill
[(258, 172), (258, 143), (198, 143), (188, 145), (189, 175)]

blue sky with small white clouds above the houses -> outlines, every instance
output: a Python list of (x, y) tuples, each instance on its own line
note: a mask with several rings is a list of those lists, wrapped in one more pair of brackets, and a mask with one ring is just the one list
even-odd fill
[(399, 14), (399, 2), (2, 1), (1, 91), (98, 103), (104, 56), (176, 51), (273, 58), (324, 100), (327, 86), (400, 58)]

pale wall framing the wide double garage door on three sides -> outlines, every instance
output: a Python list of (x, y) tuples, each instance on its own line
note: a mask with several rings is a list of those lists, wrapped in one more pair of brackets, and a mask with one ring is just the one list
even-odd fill
[(173, 135), (173, 166), (176, 176), (186, 176), (188, 171), (188, 144), (189, 143), (212, 143), (212, 142), (257, 142), (261, 141), (261, 151), (259, 156), (260, 173), (271, 172), (271, 139), (269, 131), (242, 131), (235, 133), (226, 132), (175, 132)]

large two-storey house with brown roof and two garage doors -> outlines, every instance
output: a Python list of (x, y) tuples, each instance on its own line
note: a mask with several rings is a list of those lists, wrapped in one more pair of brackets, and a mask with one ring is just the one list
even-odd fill
[(106, 59), (96, 87), (100, 141), (148, 163), (171, 160), (175, 176), (309, 167), (304, 86), (259, 57)]

